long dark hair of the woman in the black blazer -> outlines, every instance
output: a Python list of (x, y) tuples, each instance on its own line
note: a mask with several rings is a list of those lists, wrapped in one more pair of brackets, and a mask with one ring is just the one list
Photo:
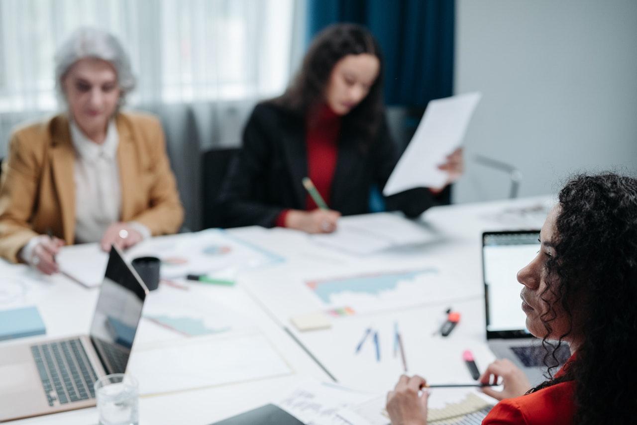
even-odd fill
[(275, 103), (301, 117), (324, 102), (325, 90), (336, 62), (347, 55), (375, 55), (380, 62), (378, 76), (367, 96), (345, 117), (354, 131), (373, 138), (383, 118), (383, 58), (378, 42), (367, 29), (356, 24), (334, 24), (321, 31), (305, 54), (301, 69)]

